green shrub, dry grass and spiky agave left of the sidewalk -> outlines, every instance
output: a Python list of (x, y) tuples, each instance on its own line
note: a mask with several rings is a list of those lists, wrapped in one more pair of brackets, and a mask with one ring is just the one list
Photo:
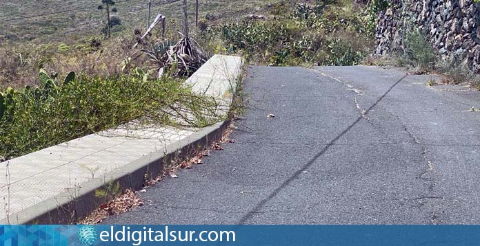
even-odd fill
[(0, 89), (0, 160), (132, 120), (132, 127), (203, 127), (220, 120), (213, 98), (183, 85), (209, 56), (186, 26), (168, 46), (163, 33), (140, 38), (135, 30), (115, 40), (92, 37), (85, 45), (3, 49), (0, 75), (8, 87)]

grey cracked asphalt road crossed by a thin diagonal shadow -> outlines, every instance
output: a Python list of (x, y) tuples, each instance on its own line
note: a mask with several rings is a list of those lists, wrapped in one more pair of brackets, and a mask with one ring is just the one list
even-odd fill
[(480, 223), (480, 93), (432, 79), (250, 67), (235, 142), (104, 223)]

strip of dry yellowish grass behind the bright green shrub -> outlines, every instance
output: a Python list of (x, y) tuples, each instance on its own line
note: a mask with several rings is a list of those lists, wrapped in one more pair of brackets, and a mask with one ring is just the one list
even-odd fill
[(101, 77), (121, 72), (129, 54), (132, 36), (101, 41), (100, 47), (85, 45), (19, 45), (0, 48), (0, 88), (37, 85), (39, 69), (65, 76), (70, 71)]

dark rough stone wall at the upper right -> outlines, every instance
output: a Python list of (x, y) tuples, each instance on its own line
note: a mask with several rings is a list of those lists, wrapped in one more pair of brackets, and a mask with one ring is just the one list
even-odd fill
[(480, 71), (480, 4), (473, 0), (391, 0), (380, 12), (375, 32), (377, 55), (401, 52), (403, 36), (418, 28), (443, 59), (456, 58)]

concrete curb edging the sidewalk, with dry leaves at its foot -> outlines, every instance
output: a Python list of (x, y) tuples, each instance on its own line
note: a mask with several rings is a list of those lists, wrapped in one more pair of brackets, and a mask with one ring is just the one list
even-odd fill
[[(221, 139), (230, 121), (218, 122), (202, 128), (185, 139), (167, 146), (166, 153), (150, 153), (127, 166), (108, 172), (106, 179), (92, 179), (83, 183), (78, 192), (62, 192), (42, 203), (26, 208), (10, 216), (12, 224), (68, 224), (87, 216), (105, 202), (95, 196), (95, 190), (104, 189), (109, 182), (119, 182), (122, 190), (138, 190), (143, 187), (145, 177), (156, 177), (163, 170), (163, 164), (172, 159), (183, 159), (207, 148)], [(76, 194), (75, 194), (76, 193)], [(0, 221), (6, 224), (6, 221)]]

